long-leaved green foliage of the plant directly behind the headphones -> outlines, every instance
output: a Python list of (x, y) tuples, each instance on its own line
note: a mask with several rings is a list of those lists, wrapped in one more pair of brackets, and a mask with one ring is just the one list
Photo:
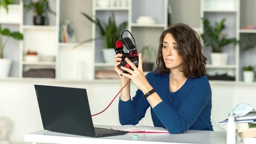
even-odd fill
[[(128, 25), (127, 21), (117, 25), (116, 21), (115, 21), (115, 15), (113, 14), (113, 12), (112, 12), (112, 17), (108, 18), (108, 23), (100, 21), (98, 18), (96, 18), (94, 20), (92, 17), (90, 17), (88, 14), (86, 14), (84, 12), (81, 12), (81, 14), (84, 17), (86, 17), (88, 20), (90, 20), (92, 23), (95, 23), (99, 27), (100, 33), (101, 33), (102, 38), (104, 40), (105, 48), (113, 48), (113, 46), (112, 46), (112, 36), (113, 36), (113, 34), (114, 33), (119, 34), (121, 31), (125, 30), (126, 26)], [(115, 42), (118, 39), (119, 39), (119, 36), (114, 35), (113, 41)], [(81, 42), (81, 43), (84, 43), (84, 42)], [(81, 43), (79, 43), (79, 45), (81, 45)]]

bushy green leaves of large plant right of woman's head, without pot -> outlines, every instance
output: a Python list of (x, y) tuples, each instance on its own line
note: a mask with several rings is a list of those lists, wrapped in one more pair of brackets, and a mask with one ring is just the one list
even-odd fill
[(212, 27), (207, 18), (203, 18), (204, 34), (201, 34), (202, 40), (206, 46), (212, 47), (213, 53), (221, 53), (222, 47), (231, 43), (236, 44), (238, 42), (236, 38), (227, 38), (226, 34), (222, 31), (226, 27), (224, 25), (226, 19), (222, 19), (220, 23), (215, 22), (215, 27)]

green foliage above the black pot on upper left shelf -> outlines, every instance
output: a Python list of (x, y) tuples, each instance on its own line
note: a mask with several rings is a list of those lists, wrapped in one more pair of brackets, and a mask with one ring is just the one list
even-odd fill
[(48, 12), (56, 15), (55, 11), (52, 11), (49, 6), (48, 0), (38, 0), (33, 2), (33, 0), (23, 0), (23, 5), (27, 10), (33, 10), (37, 15), (47, 14)]

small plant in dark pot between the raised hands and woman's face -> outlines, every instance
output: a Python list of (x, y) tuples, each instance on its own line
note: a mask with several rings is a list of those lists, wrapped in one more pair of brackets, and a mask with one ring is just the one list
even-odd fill
[(151, 46), (143, 46), (142, 48), (142, 61), (143, 71), (153, 71), (154, 62), (151, 62), (152, 53), (156, 54), (156, 51)]

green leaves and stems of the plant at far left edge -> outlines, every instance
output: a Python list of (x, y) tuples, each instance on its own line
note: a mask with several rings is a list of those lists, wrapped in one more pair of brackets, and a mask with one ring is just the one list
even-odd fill
[[(3, 41), (3, 36), (7, 37), (5, 41)], [(2, 29), (0, 25), (0, 58), (3, 58), (4, 47), (10, 37), (14, 38), (15, 40), (23, 40), (23, 34), (21, 34), (19, 31), (11, 32), (9, 28)]]

